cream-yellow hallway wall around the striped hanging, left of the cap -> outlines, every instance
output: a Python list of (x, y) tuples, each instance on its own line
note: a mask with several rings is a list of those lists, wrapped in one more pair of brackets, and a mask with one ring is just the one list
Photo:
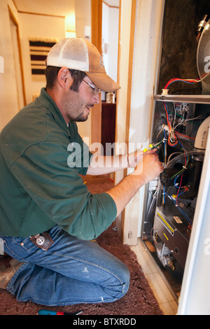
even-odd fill
[(32, 101), (32, 95), (39, 94), (41, 87), (45, 86), (45, 78), (38, 82), (33, 81), (31, 77), (29, 37), (57, 38), (58, 40), (65, 37), (64, 18), (18, 13), (13, 1), (0, 1), (0, 56), (4, 63), (4, 71), (0, 73), (0, 130), (20, 111), (8, 6), (18, 22), (20, 31), (27, 104)]

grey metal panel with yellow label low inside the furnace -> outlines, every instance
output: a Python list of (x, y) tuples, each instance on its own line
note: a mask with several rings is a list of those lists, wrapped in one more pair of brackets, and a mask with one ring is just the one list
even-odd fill
[(184, 223), (184, 218), (176, 211), (176, 207), (173, 211), (172, 207), (157, 207), (153, 232), (158, 234), (177, 262), (184, 268), (188, 253), (190, 230), (188, 230), (188, 225)]

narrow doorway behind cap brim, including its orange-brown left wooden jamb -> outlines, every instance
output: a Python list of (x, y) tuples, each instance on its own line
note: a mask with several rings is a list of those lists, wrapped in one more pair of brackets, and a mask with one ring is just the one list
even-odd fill
[[(104, 59), (106, 73), (117, 82), (118, 78), (118, 25), (119, 0), (92, 0), (91, 3), (91, 41)], [(114, 31), (114, 33), (113, 33)], [(106, 144), (115, 143), (116, 132), (116, 94), (114, 102), (106, 102), (102, 92), (101, 104), (94, 105), (92, 111), (92, 144), (102, 144), (98, 153), (106, 153)]]

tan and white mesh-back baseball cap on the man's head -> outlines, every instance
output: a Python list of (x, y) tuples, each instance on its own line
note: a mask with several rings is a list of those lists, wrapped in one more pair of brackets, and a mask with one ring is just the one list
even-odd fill
[(84, 71), (90, 80), (105, 92), (120, 89), (120, 85), (106, 74), (102, 56), (97, 48), (85, 38), (64, 38), (53, 45), (46, 65)]

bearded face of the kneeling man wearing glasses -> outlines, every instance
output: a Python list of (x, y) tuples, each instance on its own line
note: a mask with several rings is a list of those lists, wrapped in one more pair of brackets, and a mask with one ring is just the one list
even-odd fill
[[(88, 76), (85, 76), (83, 80), (94, 86)], [(69, 88), (63, 94), (62, 113), (67, 122), (86, 121), (92, 106), (100, 102), (99, 94), (93, 94), (92, 87), (87, 85), (85, 81), (80, 83), (78, 92), (74, 92)]]

